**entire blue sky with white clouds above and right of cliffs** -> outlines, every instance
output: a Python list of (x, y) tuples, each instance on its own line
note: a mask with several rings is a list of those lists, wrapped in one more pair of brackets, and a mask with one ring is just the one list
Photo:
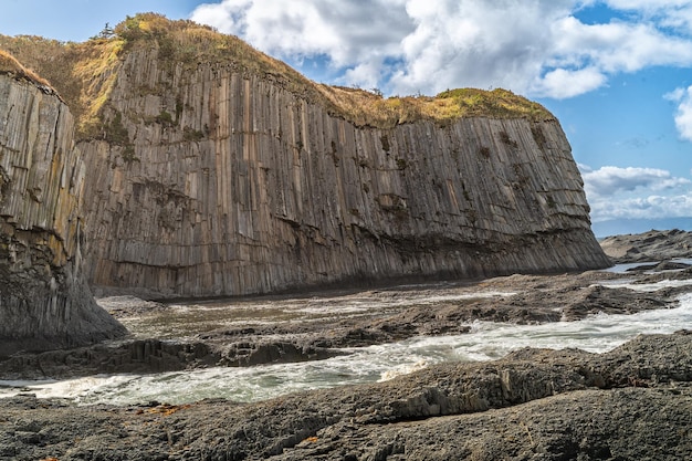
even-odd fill
[(84, 41), (137, 12), (244, 39), (322, 83), (503, 87), (560, 121), (597, 237), (692, 230), (692, 0), (0, 0), (0, 33)]

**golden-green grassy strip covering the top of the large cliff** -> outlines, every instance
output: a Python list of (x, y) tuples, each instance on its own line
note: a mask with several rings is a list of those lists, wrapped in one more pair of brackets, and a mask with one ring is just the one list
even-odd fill
[(102, 107), (117, 80), (119, 63), (128, 53), (147, 50), (156, 50), (161, 66), (170, 70), (182, 66), (192, 71), (207, 64), (259, 75), (359, 126), (389, 128), (421, 119), (447, 123), (462, 117), (555, 118), (542, 105), (505, 90), (463, 88), (434, 97), (385, 98), (358, 88), (317, 84), (237, 36), (157, 13), (127, 17), (84, 43), (0, 35), (0, 48), (36, 69), (59, 90), (78, 121), (80, 137), (88, 137), (101, 123)]

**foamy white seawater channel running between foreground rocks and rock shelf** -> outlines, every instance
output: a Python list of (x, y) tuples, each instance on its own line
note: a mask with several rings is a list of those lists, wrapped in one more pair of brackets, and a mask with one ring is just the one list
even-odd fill
[[(670, 281), (649, 285), (611, 282), (606, 286), (654, 291), (678, 284)], [(343, 349), (346, 355), (316, 362), (61, 381), (0, 381), (0, 397), (23, 391), (38, 397), (70, 398), (81, 405), (185, 404), (205, 398), (251, 402), (301, 390), (381, 381), (438, 363), (491, 360), (522, 347), (574, 347), (602, 353), (639, 334), (691, 328), (692, 293), (680, 295), (679, 301), (674, 308), (632, 315), (597, 314), (577, 322), (543, 325), (473, 322), (466, 334), (418, 336), (398, 343), (347, 348)]]

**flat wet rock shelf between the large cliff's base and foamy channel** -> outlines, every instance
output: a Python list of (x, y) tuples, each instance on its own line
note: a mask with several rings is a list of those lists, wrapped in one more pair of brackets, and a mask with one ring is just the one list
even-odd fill
[[(670, 274), (667, 276), (671, 276)], [(692, 277), (692, 270), (675, 273)], [(576, 321), (597, 313), (632, 314), (672, 307), (689, 287), (637, 292), (604, 287), (602, 282), (631, 274), (585, 272), (553, 276), (512, 275), (478, 283), (400, 286), (367, 292), (323, 292), (305, 297), (266, 296), (254, 303), (275, 303), (286, 321), (264, 318), (227, 326), (245, 304), (230, 303), (209, 321), (203, 314), (178, 313), (175, 304), (135, 297), (101, 300), (104, 308), (126, 325), (134, 337), (116, 343), (41, 354), (15, 354), (0, 362), (4, 379), (46, 379), (99, 373), (160, 373), (208, 366), (254, 366), (324, 359), (345, 347), (392, 343), (421, 335), (458, 335), (474, 321), (541, 324)], [(640, 275), (640, 281), (656, 274)], [(292, 313), (297, 304), (302, 316)], [(369, 305), (363, 312), (339, 315), (340, 305)], [(200, 311), (209, 305), (201, 303)], [(187, 310), (186, 310), (187, 311)], [(331, 315), (329, 312), (335, 314)], [(321, 314), (319, 314), (321, 313)], [(259, 314), (258, 314), (259, 315)], [(252, 317), (252, 315), (250, 315)], [(161, 323), (169, 333), (151, 336)], [(185, 327), (186, 329), (180, 329)]]

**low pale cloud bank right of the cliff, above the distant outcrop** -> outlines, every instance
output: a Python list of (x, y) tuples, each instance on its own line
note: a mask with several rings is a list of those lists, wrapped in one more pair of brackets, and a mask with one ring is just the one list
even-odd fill
[(591, 221), (692, 216), (692, 181), (656, 168), (579, 165)]

